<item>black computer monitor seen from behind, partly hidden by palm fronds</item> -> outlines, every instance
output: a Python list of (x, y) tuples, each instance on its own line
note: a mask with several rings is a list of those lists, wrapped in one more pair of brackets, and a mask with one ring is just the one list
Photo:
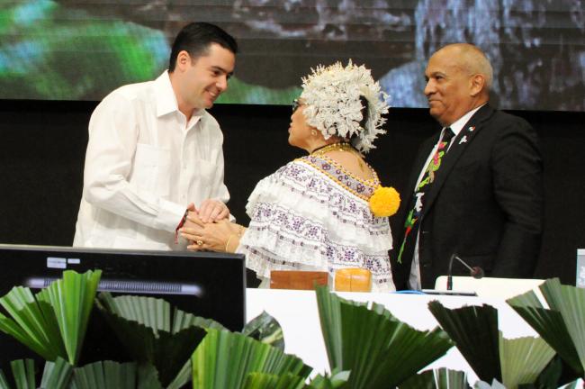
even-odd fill
[[(164, 298), (173, 306), (219, 321), (229, 330), (241, 330), (246, 320), (246, 267), (244, 256), (208, 252), (85, 249), (49, 246), (0, 245), (0, 296), (14, 286), (29, 286), (33, 293), (59, 278), (65, 270), (84, 273), (102, 270), (98, 291)], [(0, 311), (4, 309), (0, 307)], [(120, 356), (121, 345), (94, 309), (86, 342), (95, 360)], [(0, 367), (32, 352), (0, 332)], [(82, 353), (82, 357), (84, 353)], [(88, 360), (86, 362), (90, 362)]]

